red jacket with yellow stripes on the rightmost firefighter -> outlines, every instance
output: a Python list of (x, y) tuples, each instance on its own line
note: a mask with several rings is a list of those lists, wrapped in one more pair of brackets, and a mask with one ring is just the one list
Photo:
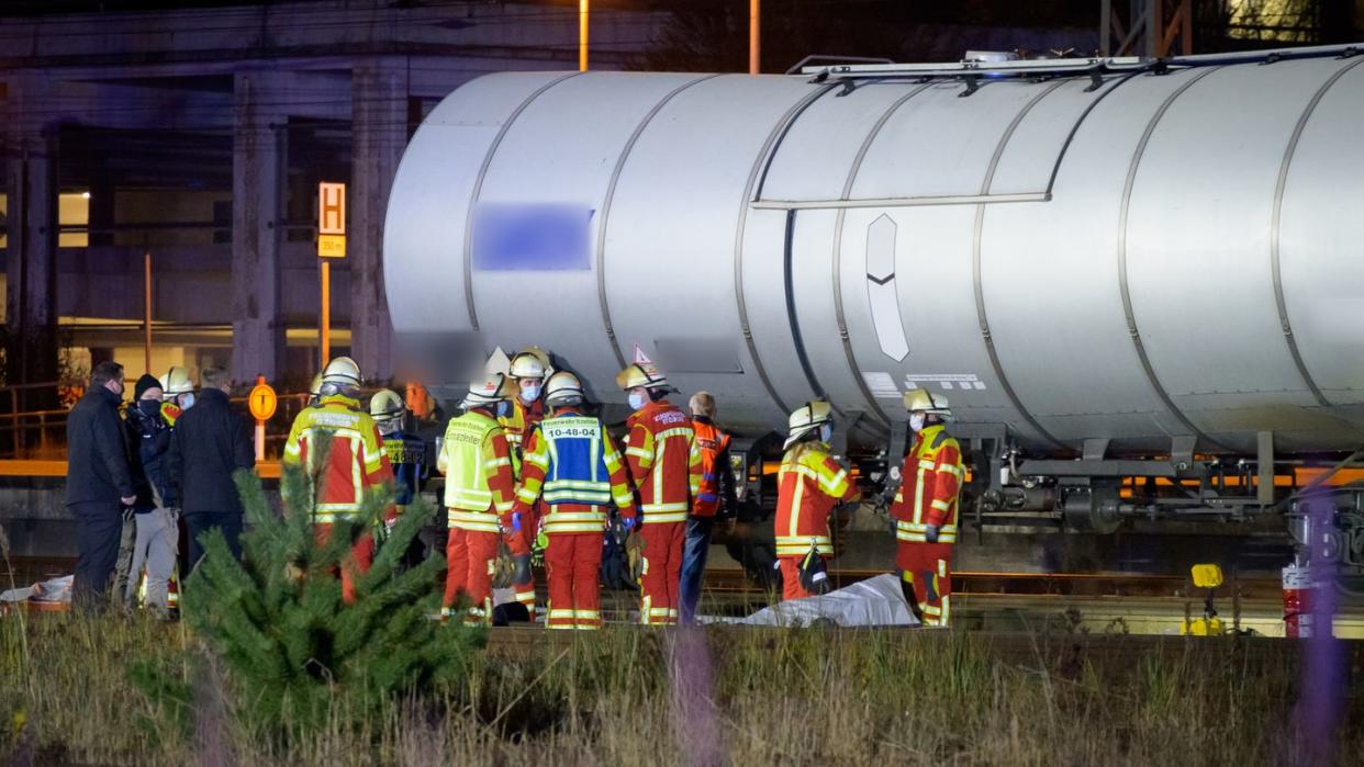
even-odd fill
[(896, 539), (925, 544), (925, 530), (936, 525), (938, 542), (955, 544), (956, 507), (964, 475), (962, 445), (948, 436), (943, 424), (919, 429), (904, 456), (903, 481), (891, 505)]

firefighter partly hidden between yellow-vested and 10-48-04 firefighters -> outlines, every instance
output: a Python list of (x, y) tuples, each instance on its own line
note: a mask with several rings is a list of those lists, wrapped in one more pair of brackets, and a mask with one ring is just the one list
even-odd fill
[[(550, 356), (536, 346), (527, 346), (512, 357), (510, 375), (517, 386), (516, 398), (512, 399), (512, 410), (506, 417), (498, 418), (506, 429), (507, 441), (512, 444), (512, 467), (517, 477), (521, 473), (521, 459), (525, 441), (535, 431), (536, 424), (544, 420), (544, 405), (540, 402), (540, 390), (550, 371)], [(516, 590), (516, 601), (525, 606), (525, 612), (535, 621), (535, 571), (531, 568), (532, 549), (540, 530), (540, 515), (544, 512), (543, 504), (535, 504), (527, 514), (520, 516), (524, 537), (518, 535), (512, 548), (512, 559), (516, 561), (516, 576), (512, 587)], [(522, 542), (525, 545), (522, 545)]]

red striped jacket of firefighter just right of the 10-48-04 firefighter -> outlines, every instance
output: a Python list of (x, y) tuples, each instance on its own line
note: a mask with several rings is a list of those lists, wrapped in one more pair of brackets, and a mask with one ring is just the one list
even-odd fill
[(701, 489), (701, 451), (692, 418), (667, 401), (636, 410), (626, 425), (625, 459), (640, 493), (644, 525), (686, 522)]

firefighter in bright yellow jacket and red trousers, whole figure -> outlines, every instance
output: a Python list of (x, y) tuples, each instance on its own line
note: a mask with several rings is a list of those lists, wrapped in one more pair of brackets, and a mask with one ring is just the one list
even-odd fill
[(450, 534), (446, 539), (446, 578), (442, 616), (449, 619), (464, 594), (472, 602), (466, 624), (492, 621), (492, 574), (503, 535), (516, 546), (512, 519), (516, 478), (512, 447), (498, 424), (498, 411), (510, 406), (512, 379), (491, 373), (469, 384), (464, 414), (446, 426), (436, 469), (445, 474), (445, 505)]

